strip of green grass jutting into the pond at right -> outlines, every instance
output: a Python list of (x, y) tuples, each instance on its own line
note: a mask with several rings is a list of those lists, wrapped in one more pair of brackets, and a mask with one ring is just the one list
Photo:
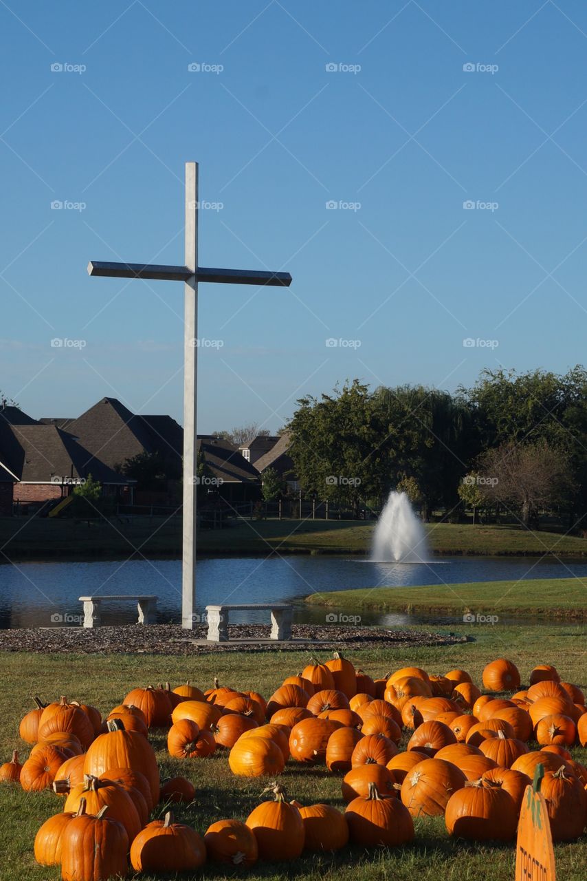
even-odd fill
[(335, 590), (312, 594), (306, 603), (346, 610), (467, 612), (482, 615), (528, 615), (585, 618), (587, 583), (580, 578), (534, 581), (473, 581), (415, 588)]

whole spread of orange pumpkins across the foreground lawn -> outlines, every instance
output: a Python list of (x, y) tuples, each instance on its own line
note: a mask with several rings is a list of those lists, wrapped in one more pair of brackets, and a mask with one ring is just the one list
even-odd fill
[[(482, 680), (485, 693), (466, 670), (435, 676), (405, 667), (373, 679), (335, 653), (326, 663), (312, 659), (268, 700), (217, 681), (207, 692), (189, 683), (148, 686), (102, 720), (77, 701), (35, 699), (19, 728), (33, 749), (22, 766), (15, 752), (0, 781), (65, 797), (34, 843), (37, 861), (61, 865), (63, 881), (125, 875), (128, 858), (137, 871), (173, 872), (207, 858), (245, 867), (290, 860), (349, 840), (400, 846), (422, 816), (444, 815), (459, 838), (513, 840), (538, 766), (553, 839), (576, 839), (587, 823), (587, 769), (569, 747), (587, 745), (583, 692), (547, 664), (520, 691), (519, 672), (504, 658), (489, 663)], [(290, 802), (272, 782), (244, 823), (219, 820), (202, 836), (170, 811), (150, 822), (159, 801), (194, 799), (185, 777), (161, 784), (150, 729), (166, 730), (169, 754), (182, 763), (227, 752), (238, 776), (275, 781), (289, 761), (325, 764), (342, 775), (346, 811)]]

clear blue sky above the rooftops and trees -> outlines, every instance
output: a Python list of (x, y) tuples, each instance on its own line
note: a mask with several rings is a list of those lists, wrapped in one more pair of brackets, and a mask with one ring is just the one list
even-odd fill
[(0, 388), (33, 416), (108, 395), (181, 419), (182, 286), (85, 267), (183, 262), (187, 159), (224, 205), (202, 265), (294, 277), (201, 286), (223, 343), (201, 351), (201, 431), (276, 429), (355, 376), (455, 389), (584, 361), (580, 0), (3, 0), (0, 33)]

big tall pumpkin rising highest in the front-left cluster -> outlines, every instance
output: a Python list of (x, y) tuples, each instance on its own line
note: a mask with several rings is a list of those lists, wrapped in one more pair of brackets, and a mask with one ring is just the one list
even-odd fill
[(158, 803), (159, 769), (153, 748), (142, 734), (125, 731), (120, 720), (108, 722), (106, 734), (96, 737), (85, 754), (85, 774), (99, 777), (113, 767), (128, 767), (144, 774), (149, 781), (153, 803)]

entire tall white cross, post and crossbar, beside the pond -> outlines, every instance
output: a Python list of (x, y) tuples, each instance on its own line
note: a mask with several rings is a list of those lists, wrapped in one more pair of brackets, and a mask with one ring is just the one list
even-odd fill
[(154, 278), (183, 281), (184, 285), (184, 385), (183, 385), (183, 540), (181, 624), (194, 627), (195, 538), (197, 474), (197, 367), (198, 284), (279, 285), (289, 287), (289, 272), (204, 269), (198, 265), (198, 164), (186, 162), (186, 260), (183, 266), (144, 263), (88, 263), (91, 276)]

